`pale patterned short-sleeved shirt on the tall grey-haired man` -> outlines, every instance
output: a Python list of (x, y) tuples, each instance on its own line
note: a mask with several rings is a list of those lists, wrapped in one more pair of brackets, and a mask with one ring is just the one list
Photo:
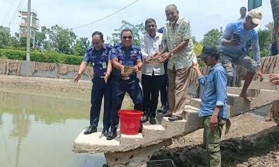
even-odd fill
[(167, 22), (164, 27), (163, 41), (167, 41), (167, 48), (172, 51), (183, 40), (189, 40), (188, 45), (181, 51), (175, 53), (169, 58), (167, 67), (176, 70), (190, 67), (192, 63), (197, 63), (197, 58), (193, 49), (192, 33), (190, 31), (190, 21), (186, 18), (179, 17), (175, 26)]

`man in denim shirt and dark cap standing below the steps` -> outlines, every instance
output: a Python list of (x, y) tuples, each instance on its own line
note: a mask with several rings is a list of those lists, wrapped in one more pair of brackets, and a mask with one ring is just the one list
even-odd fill
[(216, 47), (204, 45), (199, 58), (211, 66), (209, 74), (204, 77), (198, 64), (193, 68), (204, 86), (199, 116), (203, 117), (204, 143), (206, 143), (206, 166), (221, 167), (220, 137), (227, 120), (227, 72), (218, 63), (220, 55)]

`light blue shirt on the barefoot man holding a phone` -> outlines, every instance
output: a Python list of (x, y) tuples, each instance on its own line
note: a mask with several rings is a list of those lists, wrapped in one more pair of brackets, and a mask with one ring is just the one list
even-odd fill
[[(239, 33), (240, 44), (236, 46), (223, 45), (223, 39), (231, 40), (233, 33)], [(220, 36), (220, 51), (223, 51), (224, 54), (232, 55), (235, 57), (236, 55), (239, 55), (240, 51), (246, 52), (246, 42), (248, 40), (251, 41), (254, 60), (257, 62), (257, 65), (261, 65), (261, 59), (259, 55), (259, 37), (257, 35), (257, 31), (255, 31), (255, 29), (244, 29), (243, 22), (232, 22), (227, 24), (225, 31)]]

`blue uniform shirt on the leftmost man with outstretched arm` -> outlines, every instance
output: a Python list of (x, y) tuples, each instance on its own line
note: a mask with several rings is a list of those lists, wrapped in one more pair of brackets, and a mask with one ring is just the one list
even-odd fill
[(95, 76), (104, 76), (107, 72), (107, 61), (109, 60), (108, 54), (112, 49), (112, 45), (104, 44), (100, 51), (97, 51), (92, 46), (86, 49), (86, 54), (83, 61), (93, 65), (93, 71)]

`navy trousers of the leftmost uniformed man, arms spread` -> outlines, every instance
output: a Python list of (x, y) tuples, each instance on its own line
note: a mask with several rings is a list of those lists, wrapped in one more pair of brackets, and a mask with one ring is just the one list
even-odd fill
[(110, 114), (112, 111), (112, 84), (108, 80), (107, 84), (103, 78), (93, 77), (93, 86), (91, 90), (91, 110), (90, 110), (90, 125), (98, 127), (100, 117), (100, 106), (104, 96), (104, 115), (103, 126), (106, 129), (110, 128)]

